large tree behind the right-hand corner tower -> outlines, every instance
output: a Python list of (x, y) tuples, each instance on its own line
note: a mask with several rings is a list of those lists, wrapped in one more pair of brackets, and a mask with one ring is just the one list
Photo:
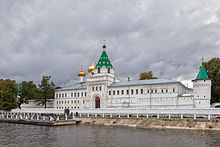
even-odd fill
[(212, 79), (211, 103), (220, 102), (220, 58), (212, 58), (203, 65)]

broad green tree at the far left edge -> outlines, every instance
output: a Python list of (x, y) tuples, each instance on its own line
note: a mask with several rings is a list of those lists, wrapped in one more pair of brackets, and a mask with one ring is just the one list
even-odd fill
[(0, 110), (17, 108), (17, 84), (10, 79), (0, 79)]

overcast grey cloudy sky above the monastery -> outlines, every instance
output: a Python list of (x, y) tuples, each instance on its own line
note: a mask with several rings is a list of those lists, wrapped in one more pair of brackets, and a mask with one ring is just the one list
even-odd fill
[(0, 0), (0, 78), (71, 85), (103, 40), (120, 80), (189, 81), (220, 56), (220, 1)]

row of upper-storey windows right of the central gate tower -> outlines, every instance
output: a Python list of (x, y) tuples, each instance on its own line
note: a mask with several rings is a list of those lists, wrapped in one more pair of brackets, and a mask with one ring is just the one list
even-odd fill
[[(136, 89), (135, 90), (135, 94), (139, 94), (139, 91), (140, 91), (140, 94), (144, 94), (144, 90), (143, 89)], [(116, 95), (116, 92), (117, 92), (117, 95), (124, 95), (124, 90), (121, 90), (121, 93), (120, 93), (120, 90), (113, 90), (113, 91), (109, 91), (109, 95), (112, 95), (112, 92), (113, 92), (113, 95)], [(175, 92), (175, 89), (172, 89), (172, 92)], [(126, 90), (126, 94), (129, 95), (129, 93), (131, 95), (134, 94), (134, 89), (131, 89), (130, 91), (129, 90)], [(147, 93), (159, 93), (159, 90), (157, 89), (151, 89), (151, 90), (147, 90)], [(168, 93), (168, 89), (161, 89), (161, 93)]]

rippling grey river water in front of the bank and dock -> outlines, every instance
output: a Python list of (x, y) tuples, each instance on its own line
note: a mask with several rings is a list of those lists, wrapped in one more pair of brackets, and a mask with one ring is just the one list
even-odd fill
[(220, 147), (220, 132), (0, 123), (1, 147)]

